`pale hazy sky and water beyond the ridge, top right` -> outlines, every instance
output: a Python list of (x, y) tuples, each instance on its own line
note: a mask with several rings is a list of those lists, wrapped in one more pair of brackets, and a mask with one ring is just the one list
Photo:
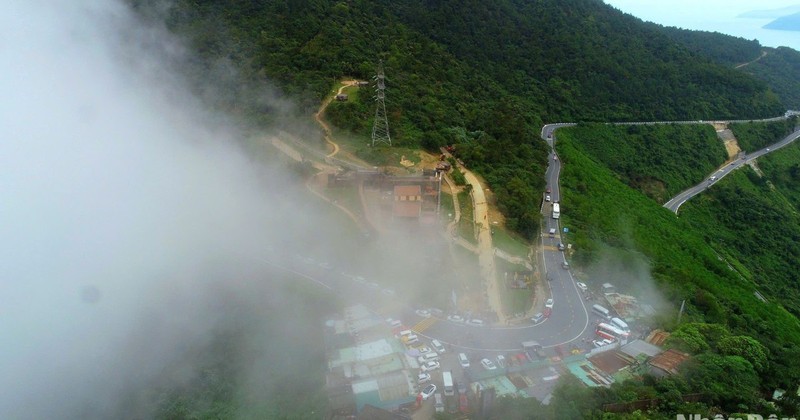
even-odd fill
[(800, 5), (797, 0), (606, 0), (617, 9), (640, 19), (685, 29), (714, 31), (758, 39), (768, 47), (800, 49), (800, 32), (760, 29), (770, 19), (740, 19), (752, 10), (771, 10)]

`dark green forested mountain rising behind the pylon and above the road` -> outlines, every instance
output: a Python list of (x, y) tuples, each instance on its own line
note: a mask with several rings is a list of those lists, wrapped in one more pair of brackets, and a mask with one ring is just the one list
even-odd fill
[[(130, 1), (146, 14), (157, 9), (154, 0)], [(670, 35), (597, 0), (176, 0), (165, 13), (150, 16), (188, 40), (197, 57), (189, 71), (237, 70), (215, 77), (222, 87), (206, 96), (267, 124), (283, 111), (252, 100), (264, 83), (308, 115), (335, 81), (369, 79), (382, 60), (394, 142), (463, 143), (461, 158), (499, 190), (510, 227), (526, 236), (538, 228), (544, 122), (785, 110), (765, 82), (731, 65), (757, 56), (757, 44), (728, 40), (704, 50), (697, 45), (705, 35)], [(329, 114), (366, 136), (372, 105), (362, 96)]]

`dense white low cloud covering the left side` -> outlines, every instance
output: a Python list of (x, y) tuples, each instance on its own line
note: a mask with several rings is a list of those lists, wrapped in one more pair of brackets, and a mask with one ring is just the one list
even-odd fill
[(184, 54), (119, 2), (0, 5), (0, 416), (109, 416), (208, 339), (222, 291), (264, 292), (252, 256), (319, 233)]

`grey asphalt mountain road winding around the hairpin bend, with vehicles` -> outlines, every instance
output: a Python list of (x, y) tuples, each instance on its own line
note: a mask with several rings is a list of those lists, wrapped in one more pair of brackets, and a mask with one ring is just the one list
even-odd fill
[[(777, 120), (786, 118), (793, 115), (794, 112), (787, 112), (784, 117), (772, 118), (768, 120)], [(722, 122), (722, 121), (714, 121)], [(733, 121), (728, 121), (733, 122)], [(712, 121), (677, 121), (677, 122), (643, 122), (643, 123), (615, 123), (620, 125), (628, 124), (704, 124), (713, 123)], [(548, 124), (542, 127), (541, 136), (548, 143), (551, 148), (549, 155), (549, 165), (545, 172), (547, 185), (551, 189), (550, 196), (553, 202), (560, 200), (561, 191), (559, 189), (558, 178), (561, 170), (561, 161), (557, 159), (555, 154), (554, 140), (555, 131), (561, 127), (574, 126), (575, 123), (558, 123)], [(771, 145), (769, 148), (759, 150), (751, 153), (745, 159), (733, 162), (726, 167), (720, 169), (715, 173), (715, 181), (721, 179), (730, 171), (741, 167), (741, 165), (750, 162), (766, 153), (779, 149), (800, 137), (800, 131), (793, 133), (778, 143)], [(708, 186), (708, 182), (690, 188), (689, 190), (679, 194), (665, 204), (665, 207), (671, 208), (674, 206), (673, 211), (681, 204), (686, 202), (694, 195), (702, 192)], [(546, 203), (549, 204), (549, 203)], [(669, 205), (669, 206), (668, 206)], [(402, 319), (407, 326), (417, 325), (418, 323), (426, 324), (424, 328), (419, 328), (422, 331), (418, 334), (427, 338), (436, 338), (444, 344), (465, 350), (485, 351), (485, 352), (513, 352), (521, 350), (521, 343), (528, 340), (536, 340), (545, 348), (552, 348), (557, 346), (564, 346), (581, 339), (588, 338), (591, 332), (587, 333), (590, 321), (590, 314), (586, 307), (586, 300), (584, 295), (578, 289), (572, 273), (568, 269), (562, 268), (562, 263), (566, 260), (564, 253), (558, 250), (558, 244), (561, 242), (560, 226), (557, 219), (551, 217), (550, 205), (545, 205), (542, 208), (544, 213), (545, 223), (543, 223), (542, 231), (542, 269), (546, 273), (547, 282), (551, 291), (551, 297), (554, 301), (552, 313), (550, 317), (546, 318), (537, 324), (528, 324), (520, 326), (473, 326), (462, 322), (452, 322), (444, 317), (430, 318), (426, 321), (425, 317), (419, 316), (413, 308), (406, 308), (402, 313), (390, 313), (386, 316), (394, 316)], [(549, 235), (550, 229), (555, 229), (556, 234), (551, 237)], [(380, 306), (382, 304), (395, 301), (393, 292), (381, 290), (377, 284), (367, 283), (363, 278), (348, 275), (345, 273), (336, 273), (330, 267), (325, 269), (309, 268), (315, 267), (309, 264), (308, 261), (286, 259), (285, 262), (277, 264), (271, 261), (263, 260), (276, 268), (287, 270), (297, 275), (303, 276), (311, 281), (314, 281), (321, 286), (346, 297), (349, 300), (358, 302), (371, 302), (373, 306)]]

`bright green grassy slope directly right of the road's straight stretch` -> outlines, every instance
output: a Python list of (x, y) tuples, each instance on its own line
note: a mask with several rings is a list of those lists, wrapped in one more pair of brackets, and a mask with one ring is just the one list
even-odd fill
[[(710, 224), (701, 230), (691, 220), (697, 210), (677, 218), (631, 189), (583, 150), (577, 133), (559, 130), (558, 144), (565, 164), (562, 218), (572, 232), (576, 263), (590, 267), (608, 248), (640, 252), (667, 299), (674, 304), (687, 300), (690, 318), (726, 324), (736, 334), (756, 338), (771, 350), (773, 366), (790, 369), (794, 360), (787, 354), (796, 353), (800, 324), (782, 306), (760, 302), (754, 291), (761, 286), (729, 268), (707, 244), (708, 232), (724, 226)], [(742, 222), (731, 229), (748, 225)], [(800, 379), (800, 372), (791, 369), (782, 377)]]

